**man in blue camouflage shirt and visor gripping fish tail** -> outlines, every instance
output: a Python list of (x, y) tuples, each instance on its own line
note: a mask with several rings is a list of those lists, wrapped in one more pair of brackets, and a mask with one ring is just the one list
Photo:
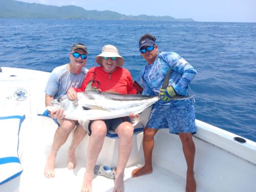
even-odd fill
[[(152, 106), (152, 111), (143, 136), (143, 152), (145, 165), (134, 169), (132, 177), (153, 172), (152, 152), (154, 136), (159, 129), (169, 128), (169, 132), (177, 134), (182, 142), (183, 153), (187, 163), (186, 192), (196, 191), (194, 177), (195, 144), (192, 135), (196, 133), (194, 99), (172, 100), (176, 95), (191, 94), (189, 83), (197, 71), (181, 56), (174, 52), (158, 52), (156, 38), (150, 34), (139, 40), (141, 56), (147, 64), (141, 73), (143, 95), (162, 97)], [(166, 74), (172, 68), (168, 87), (162, 88)]]

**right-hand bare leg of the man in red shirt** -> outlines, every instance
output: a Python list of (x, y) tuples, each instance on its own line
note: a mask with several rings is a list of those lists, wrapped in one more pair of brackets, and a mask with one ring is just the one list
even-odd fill
[(119, 144), (118, 144), (117, 169), (115, 172), (115, 186), (114, 186), (113, 192), (124, 191), (124, 184), (123, 184), (124, 168), (127, 164), (127, 161), (132, 151), (133, 130), (134, 130), (134, 127), (130, 122), (123, 122), (116, 129), (116, 133), (119, 136)]

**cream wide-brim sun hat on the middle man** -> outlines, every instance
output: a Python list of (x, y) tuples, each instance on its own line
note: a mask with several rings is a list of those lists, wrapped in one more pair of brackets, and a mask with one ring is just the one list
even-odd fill
[(95, 61), (102, 66), (102, 57), (118, 57), (117, 66), (120, 67), (124, 63), (124, 58), (119, 55), (119, 52), (115, 46), (105, 45), (99, 55), (95, 57)]

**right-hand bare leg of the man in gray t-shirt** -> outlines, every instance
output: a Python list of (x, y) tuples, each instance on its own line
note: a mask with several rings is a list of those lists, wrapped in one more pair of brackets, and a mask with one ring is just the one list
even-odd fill
[(68, 168), (73, 169), (76, 166), (76, 147), (82, 141), (82, 139), (86, 136), (87, 132), (83, 129), (82, 125), (78, 124), (74, 133), (71, 145), (69, 147), (69, 159), (68, 159)]

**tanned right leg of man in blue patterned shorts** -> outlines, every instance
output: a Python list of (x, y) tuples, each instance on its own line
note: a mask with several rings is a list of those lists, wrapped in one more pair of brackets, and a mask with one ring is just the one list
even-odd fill
[(195, 143), (191, 133), (179, 133), (179, 136), (187, 163), (186, 192), (195, 192), (197, 190), (197, 184), (194, 177)]

